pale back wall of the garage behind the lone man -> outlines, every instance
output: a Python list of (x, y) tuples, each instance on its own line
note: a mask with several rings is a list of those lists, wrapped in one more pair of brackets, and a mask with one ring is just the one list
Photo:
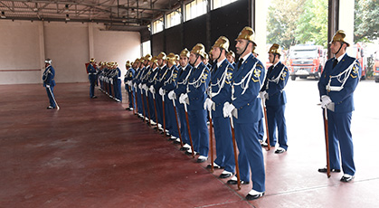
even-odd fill
[(0, 28), (0, 84), (42, 83), (45, 58), (59, 83), (88, 81), (90, 54), (117, 61), (122, 76), (125, 62), (141, 56), (140, 33), (106, 31), (103, 24), (2, 20)]

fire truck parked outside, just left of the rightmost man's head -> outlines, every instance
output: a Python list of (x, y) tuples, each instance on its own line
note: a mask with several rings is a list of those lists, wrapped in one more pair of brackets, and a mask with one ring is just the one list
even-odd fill
[(291, 80), (314, 77), (318, 80), (323, 71), (326, 52), (323, 46), (297, 44), (289, 47), (289, 76)]

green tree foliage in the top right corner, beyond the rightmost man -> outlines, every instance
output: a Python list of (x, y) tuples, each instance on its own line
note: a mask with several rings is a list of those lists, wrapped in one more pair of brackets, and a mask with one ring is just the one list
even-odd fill
[(379, 6), (377, 0), (355, 0), (354, 42), (379, 38)]

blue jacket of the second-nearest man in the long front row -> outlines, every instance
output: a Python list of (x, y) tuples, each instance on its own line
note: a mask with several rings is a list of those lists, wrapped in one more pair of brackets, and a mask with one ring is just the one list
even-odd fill
[(217, 64), (214, 64), (209, 84), (213, 94), (212, 100), (215, 105), (215, 111), (212, 110), (212, 115), (213, 117), (223, 117), (223, 104), (232, 101), (232, 85), (227, 76), (231, 76), (233, 67), (226, 59), (220, 67), (216, 67)]

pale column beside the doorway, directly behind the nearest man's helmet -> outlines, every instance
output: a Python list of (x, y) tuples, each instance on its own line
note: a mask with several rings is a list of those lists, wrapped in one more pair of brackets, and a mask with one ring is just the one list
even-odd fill
[[(267, 40), (267, 12), (269, 7), (269, 1), (267, 0), (255, 0), (255, 6), (254, 4), (251, 4), (253, 8), (251, 8), (251, 23), (254, 23), (255, 25), (255, 43), (257, 43), (257, 48), (255, 49), (255, 52), (258, 52), (260, 54), (258, 56), (258, 59), (262, 61), (264, 64), (267, 59), (267, 49), (266, 49), (266, 40)], [(255, 7), (255, 8), (254, 8)], [(255, 20), (253, 19), (255, 17)]]

